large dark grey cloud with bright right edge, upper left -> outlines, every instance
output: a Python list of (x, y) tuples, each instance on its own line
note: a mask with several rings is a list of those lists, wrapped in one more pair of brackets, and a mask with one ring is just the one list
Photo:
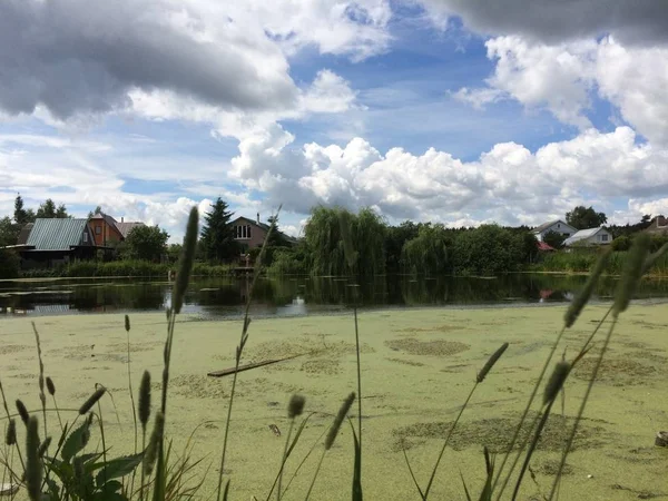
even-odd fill
[[(295, 101), (287, 62), (262, 33), (206, 19), (205, 10), (175, 22), (185, 6), (0, 1), (0, 111), (30, 114), (42, 105), (58, 118), (104, 112), (126, 107), (132, 88), (173, 90), (227, 109)], [(230, 23), (229, 30), (218, 21)], [(205, 32), (212, 24), (213, 39)]]

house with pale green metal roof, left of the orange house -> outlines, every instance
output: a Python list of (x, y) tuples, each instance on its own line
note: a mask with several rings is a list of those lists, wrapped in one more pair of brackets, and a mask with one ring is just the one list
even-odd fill
[(24, 267), (68, 264), (95, 257), (97, 247), (88, 219), (38, 218), (26, 243), (17, 245)]

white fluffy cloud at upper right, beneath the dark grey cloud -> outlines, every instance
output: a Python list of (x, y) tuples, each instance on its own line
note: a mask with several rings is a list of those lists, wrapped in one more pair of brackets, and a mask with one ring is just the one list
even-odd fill
[(645, 137), (668, 144), (668, 46), (623, 47), (610, 37), (547, 46), (518, 36), (492, 38), (485, 45), (495, 61), (488, 86), (459, 89), (452, 95), (455, 99), (477, 108), (517, 99), (586, 129), (591, 126), (586, 111), (592, 92), (598, 92)]

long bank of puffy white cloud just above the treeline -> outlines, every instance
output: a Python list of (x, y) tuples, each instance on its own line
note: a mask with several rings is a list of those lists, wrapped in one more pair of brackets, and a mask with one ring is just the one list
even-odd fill
[(639, 145), (629, 127), (588, 129), (536, 153), (495, 145), (478, 161), (433, 148), (382, 155), (355, 138), (344, 147), (308, 144), (276, 126), (242, 141), (232, 175), (267, 200), (306, 213), (315, 204), (372, 206), (393, 218), (537, 224), (600, 197), (648, 199), (668, 190), (668, 150)]

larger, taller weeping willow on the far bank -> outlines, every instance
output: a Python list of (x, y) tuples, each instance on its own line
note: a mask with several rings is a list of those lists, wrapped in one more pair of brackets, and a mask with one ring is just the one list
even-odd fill
[[(351, 261), (346, 259), (342, 229), (350, 235), (352, 248), (348, 249), (347, 257)], [(356, 276), (373, 276), (384, 273), (385, 224), (369, 208), (353, 214), (341, 207), (315, 207), (304, 236), (310, 250), (312, 275), (353, 273)]]

